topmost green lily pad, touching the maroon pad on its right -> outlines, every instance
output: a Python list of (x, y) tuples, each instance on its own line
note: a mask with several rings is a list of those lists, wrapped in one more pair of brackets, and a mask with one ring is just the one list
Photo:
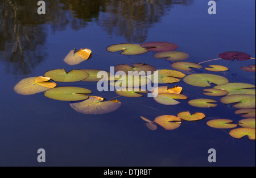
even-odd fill
[(122, 55), (141, 55), (143, 53), (148, 52), (146, 49), (141, 47), (139, 44), (115, 44), (107, 48), (109, 52), (121, 52)]

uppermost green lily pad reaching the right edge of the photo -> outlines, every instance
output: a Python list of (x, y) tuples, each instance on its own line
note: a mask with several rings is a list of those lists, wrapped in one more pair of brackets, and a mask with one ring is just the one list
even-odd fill
[(233, 94), (255, 94), (255, 85), (246, 84), (246, 83), (229, 83), (226, 85), (217, 85), (214, 86), (214, 89), (226, 90), (229, 92), (228, 95)]

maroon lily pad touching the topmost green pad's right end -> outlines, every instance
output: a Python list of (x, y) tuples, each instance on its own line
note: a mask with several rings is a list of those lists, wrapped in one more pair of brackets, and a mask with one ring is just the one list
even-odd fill
[(168, 42), (149, 42), (141, 45), (143, 48), (147, 48), (147, 51), (162, 52), (162, 51), (174, 51), (179, 48), (178, 45)]

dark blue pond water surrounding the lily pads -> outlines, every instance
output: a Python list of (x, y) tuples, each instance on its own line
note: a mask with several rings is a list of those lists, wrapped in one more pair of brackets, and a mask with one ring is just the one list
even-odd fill
[[(147, 97), (119, 97), (122, 106), (113, 113), (85, 115), (73, 110), (69, 102), (51, 100), (43, 93), (21, 96), (13, 89), (23, 78), (42, 76), (52, 69), (109, 71), (110, 66), (131, 63), (172, 69), (151, 52), (128, 57), (106, 51), (118, 43), (172, 42), (190, 55), (187, 61), (195, 63), (216, 59), (226, 51), (255, 57), (255, 1), (216, 1), (217, 15), (209, 15), (208, 1), (201, 0), (133, 1), (129, 6), (127, 1), (84, 1), (88, 11), (79, 6), (81, 2), (70, 8), (72, 1), (48, 3), (45, 16), (36, 14), (37, 1), (13, 1), (12, 6), (3, 1), (0, 5), (1, 166), (255, 166), (255, 141), (234, 139), (229, 130), (206, 125), (210, 118), (242, 119), (234, 114), (236, 109), (220, 102), (217, 107), (201, 109), (187, 101), (165, 106)], [(89, 48), (93, 55), (71, 67), (63, 59), (73, 48)], [(204, 67), (210, 64), (228, 66), (228, 72), (218, 74), (230, 82), (255, 85), (255, 73), (241, 70), (255, 60), (218, 60)], [(117, 97), (114, 92), (97, 92), (96, 84), (70, 85), (88, 88), (95, 96)], [(206, 97), (200, 94), (201, 88), (182, 81), (178, 85), (189, 100)], [(187, 110), (203, 112), (207, 118), (182, 122), (173, 131), (161, 127), (151, 131), (140, 118), (152, 121), (159, 115)], [(46, 150), (46, 163), (37, 162), (39, 148)], [(210, 148), (217, 151), (217, 163), (208, 162)]]

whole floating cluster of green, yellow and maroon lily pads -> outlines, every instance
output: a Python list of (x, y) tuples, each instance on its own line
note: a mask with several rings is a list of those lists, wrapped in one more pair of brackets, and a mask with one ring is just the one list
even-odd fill
[[(53, 100), (69, 101), (72, 109), (82, 114), (106, 114), (117, 110), (121, 106), (121, 101), (106, 100), (104, 97), (93, 96), (92, 91), (86, 88), (74, 86), (57, 86), (57, 82), (97, 82), (102, 79), (109, 85), (119, 86), (115, 90), (118, 97), (139, 98), (147, 93), (152, 93), (154, 101), (160, 105), (179, 105), (181, 102), (187, 102), (189, 105), (197, 108), (211, 108), (218, 105), (228, 105), (236, 108), (236, 114), (240, 114), (243, 119), (238, 123), (233, 123), (229, 119), (215, 119), (207, 122), (207, 125), (219, 129), (234, 129), (230, 135), (234, 138), (242, 138), (248, 135), (250, 139), (255, 139), (255, 86), (243, 82), (230, 82), (228, 78), (217, 74), (229, 71), (228, 67), (222, 65), (208, 65), (204, 67), (203, 63), (194, 63), (193, 61), (183, 61), (189, 59), (186, 52), (176, 51), (178, 45), (169, 42), (149, 42), (143, 44), (114, 44), (106, 48), (109, 52), (119, 52), (121, 55), (143, 55), (144, 53), (153, 53), (156, 59), (166, 59), (171, 66), (165, 69), (157, 69), (154, 65), (147, 63), (119, 64), (114, 67), (117, 74), (105, 71), (109, 77), (97, 78), (100, 69), (54, 69), (48, 71), (42, 77), (30, 77), (20, 81), (14, 88), (16, 93), (23, 95), (36, 94), (44, 92), (44, 96)], [(92, 56), (90, 49), (84, 48), (76, 51), (73, 49), (65, 57), (64, 62), (69, 65), (77, 65)], [(120, 55), (118, 55), (120, 56)], [(245, 61), (253, 59), (250, 55), (243, 52), (224, 52), (219, 55), (220, 59)], [(255, 65), (241, 67), (243, 71), (255, 72)], [(126, 78), (121, 78), (119, 74), (127, 74)], [(138, 74), (137, 79), (130, 79), (129, 74)], [(186, 73), (186, 74), (185, 74)], [(214, 73), (214, 74), (213, 74)], [(133, 77), (131, 77), (133, 78)], [(137, 80), (137, 81), (134, 81)], [(142, 81), (147, 84), (159, 84), (152, 90), (141, 88)], [(183, 88), (178, 86), (179, 82), (187, 84), (187, 88), (199, 88), (205, 98), (189, 98), (183, 94)], [(137, 85), (135, 85), (135, 83)], [(121, 84), (126, 84), (122, 86)], [(162, 86), (163, 84), (163, 86)], [(168, 84), (176, 84), (171, 86)], [(128, 87), (129, 86), (129, 87)], [(215, 97), (215, 98), (213, 98)], [(153, 100), (148, 98), (148, 101)], [(141, 117), (146, 121), (146, 125), (151, 130), (156, 130), (158, 126), (166, 130), (175, 130), (181, 126), (182, 122), (200, 121), (206, 116), (197, 111), (191, 114), (189, 111), (183, 111), (175, 115), (161, 115), (154, 121)], [(254, 124), (254, 127), (253, 127)]]

